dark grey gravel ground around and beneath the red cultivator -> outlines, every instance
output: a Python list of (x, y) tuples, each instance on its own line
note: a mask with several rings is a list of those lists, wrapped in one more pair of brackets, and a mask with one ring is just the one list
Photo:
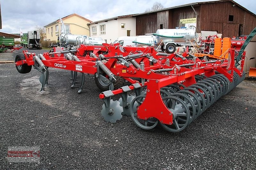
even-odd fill
[[(130, 117), (104, 122), (90, 75), (87, 91), (77, 94), (68, 71), (50, 69), (52, 91), (39, 93), (37, 70), (20, 74), (14, 64), (0, 64), (0, 72), (0, 169), (255, 169), (255, 81), (245, 80), (188, 128), (170, 133), (140, 129)], [(57, 115), (63, 116), (49, 119)], [(8, 146), (39, 146), (40, 162), (10, 163)]]

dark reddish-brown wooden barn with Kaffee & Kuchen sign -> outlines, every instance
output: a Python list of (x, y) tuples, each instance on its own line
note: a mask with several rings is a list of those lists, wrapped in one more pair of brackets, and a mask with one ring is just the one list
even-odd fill
[(232, 0), (191, 3), (134, 15), (136, 35), (157, 29), (195, 26), (197, 32), (217, 31), (222, 37), (249, 35), (256, 27), (256, 15)]

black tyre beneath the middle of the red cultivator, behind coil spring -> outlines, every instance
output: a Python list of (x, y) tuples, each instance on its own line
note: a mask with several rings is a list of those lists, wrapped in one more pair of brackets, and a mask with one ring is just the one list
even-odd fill
[[(99, 79), (96, 78), (96, 76), (94, 76), (94, 81), (95, 81), (95, 84), (97, 85), (97, 87), (100, 89), (100, 91), (104, 92), (104, 91), (109, 90), (109, 85), (107, 85), (107, 84), (105, 85), (105, 83), (101, 80), (99, 81)], [(124, 78), (122, 78), (120, 76), (116, 76), (116, 81), (113, 82), (114, 90), (124, 86), (124, 83), (125, 83)]]

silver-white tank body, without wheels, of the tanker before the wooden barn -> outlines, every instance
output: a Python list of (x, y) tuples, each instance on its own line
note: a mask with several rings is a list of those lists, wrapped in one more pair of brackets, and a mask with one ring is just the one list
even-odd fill
[(177, 44), (186, 43), (186, 38), (189, 38), (192, 42), (195, 40), (195, 32), (192, 28), (158, 29), (153, 35), (156, 36), (157, 45), (162, 40), (163, 43), (175, 42)]

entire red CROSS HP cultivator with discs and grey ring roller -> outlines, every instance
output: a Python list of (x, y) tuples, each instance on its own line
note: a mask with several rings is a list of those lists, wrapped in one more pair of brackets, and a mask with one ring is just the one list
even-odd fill
[[(43, 55), (23, 51), (15, 64), (20, 73), (28, 73), (32, 65), (41, 72), (41, 91), (48, 83), (48, 67), (71, 70), (71, 87), (81, 72), (78, 92), (84, 85), (84, 73), (93, 74), (96, 85), (104, 91), (100, 99), (104, 101), (101, 115), (105, 121), (115, 123), (127, 115), (142, 129), (159, 123), (178, 132), (244, 80), (243, 72), (235, 67), (234, 53), (234, 49), (229, 51), (229, 60), (205, 62), (189, 53), (157, 53), (152, 47), (81, 45)], [(241, 66), (243, 62), (244, 58)], [(124, 86), (124, 80), (131, 85)], [(116, 94), (121, 94), (118, 101), (111, 99)]]

